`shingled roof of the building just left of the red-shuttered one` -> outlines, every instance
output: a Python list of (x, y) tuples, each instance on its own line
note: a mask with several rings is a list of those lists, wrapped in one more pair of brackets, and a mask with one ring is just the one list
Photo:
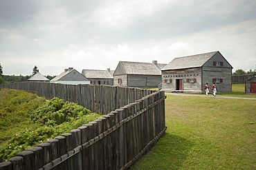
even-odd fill
[[(139, 63), (130, 61), (119, 61), (118, 67), (122, 67), (122, 73), (117, 70), (114, 75), (118, 74), (136, 74), (136, 75), (161, 75), (161, 69), (166, 64), (153, 63)], [(117, 69), (118, 69), (117, 67)]]

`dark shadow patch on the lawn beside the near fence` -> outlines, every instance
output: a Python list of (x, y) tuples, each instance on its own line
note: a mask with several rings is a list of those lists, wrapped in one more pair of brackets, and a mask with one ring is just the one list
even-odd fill
[(180, 169), (188, 157), (193, 143), (181, 136), (166, 133), (149, 151), (130, 169)]

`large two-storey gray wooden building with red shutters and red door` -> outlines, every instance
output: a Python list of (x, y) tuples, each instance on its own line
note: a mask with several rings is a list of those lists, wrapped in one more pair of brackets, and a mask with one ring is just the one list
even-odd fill
[(217, 92), (232, 92), (231, 78), (232, 66), (219, 51), (177, 57), (162, 69), (163, 89), (174, 92), (204, 93), (213, 82)]

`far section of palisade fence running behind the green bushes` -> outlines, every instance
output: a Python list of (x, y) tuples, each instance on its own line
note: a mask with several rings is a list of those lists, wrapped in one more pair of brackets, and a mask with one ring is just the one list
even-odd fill
[(122, 106), (133, 103), (152, 90), (108, 85), (65, 85), (58, 83), (19, 82), (0, 85), (2, 88), (25, 90), (26, 92), (61, 98), (77, 103), (98, 114), (107, 114)]

